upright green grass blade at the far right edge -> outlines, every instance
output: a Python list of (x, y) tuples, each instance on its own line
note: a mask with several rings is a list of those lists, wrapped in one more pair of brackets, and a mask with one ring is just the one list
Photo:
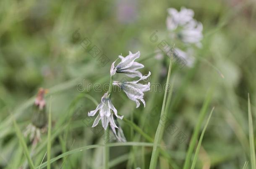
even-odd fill
[(248, 121), (249, 121), (249, 141), (250, 141), (250, 154), (251, 154), (251, 168), (256, 169), (256, 157), (255, 157), (255, 146), (254, 146), (254, 135), (253, 135), (253, 120), (251, 115), (251, 102), (250, 95), (248, 93)]

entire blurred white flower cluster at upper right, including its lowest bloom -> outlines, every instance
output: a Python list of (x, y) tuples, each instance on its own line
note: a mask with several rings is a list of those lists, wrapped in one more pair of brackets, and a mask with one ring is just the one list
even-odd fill
[(187, 66), (193, 65), (193, 46), (201, 48), (203, 39), (203, 25), (193, 19), (194, 12), (191, 9), (182, 7), (180, 12), (174, 8), (167, 9), (168, 16), (166, 20), (167, 30), (170, 32), (172, 40), (179, 39), (185, 44), (187, 51), (175, 48), (177, 57), (182, 57), (187, 61)]

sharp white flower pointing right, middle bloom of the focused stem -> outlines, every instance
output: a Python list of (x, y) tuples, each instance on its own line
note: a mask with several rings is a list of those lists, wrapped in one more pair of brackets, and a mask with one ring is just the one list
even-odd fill
[(142, 76), (137, 81), (127, 81), (127, 82), (113, 81), (113, 85), (119, 86), (121, 89), (123, 89), (123, 91), (128, 96), (128, 98), (136, 102), (136, 108), (140, 106), (140, 102), (138, 100), (140, 100), (145, 107), (146, 105), (143, 99), (143, 96), (144, 96), (143, 92), (150, 90), (150, 82), (145, 85), (140, 84), (138, 82), (148, 78), (150, 75), (151, 73), (149, 72), (147, 76)]

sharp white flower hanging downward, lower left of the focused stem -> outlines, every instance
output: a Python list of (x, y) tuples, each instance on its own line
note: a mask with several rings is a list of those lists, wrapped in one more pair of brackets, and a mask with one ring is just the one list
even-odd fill
[(92, 127), (97, 126), (97, 124), (99, 123), (99, 120), (101, 120), (102, 127), (105, 130), (107, 129), (107, 126), (109, 123), (110, 123), (111, 127), (118, 128), (118, 126), (116, 126), (116, 124), (114, 122), (112, 112), (114, 112), (115, 116), (119, 119), (123, 119), (123, 116), (118, 116), (118, 111), (113, 106), (108, 93), (105, 93), (104, 96), (102, 96), (101, 103), (99, 103), (99, 105), (97, 106), (97, 108), (95, 110), (90, 111), (88, 113), (88, 116), (94, 116), (98, 110), (99, 110), (99, 114), (96, 117)]

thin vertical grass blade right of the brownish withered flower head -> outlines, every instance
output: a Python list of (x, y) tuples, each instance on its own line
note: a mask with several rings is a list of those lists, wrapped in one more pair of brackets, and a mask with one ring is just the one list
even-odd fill
[(51, 169), (51, 130), (52, 130), (52, 96), (50, 97), (50, 108), (48, 118), (48, 136), (47, 136), (47, 169)]

